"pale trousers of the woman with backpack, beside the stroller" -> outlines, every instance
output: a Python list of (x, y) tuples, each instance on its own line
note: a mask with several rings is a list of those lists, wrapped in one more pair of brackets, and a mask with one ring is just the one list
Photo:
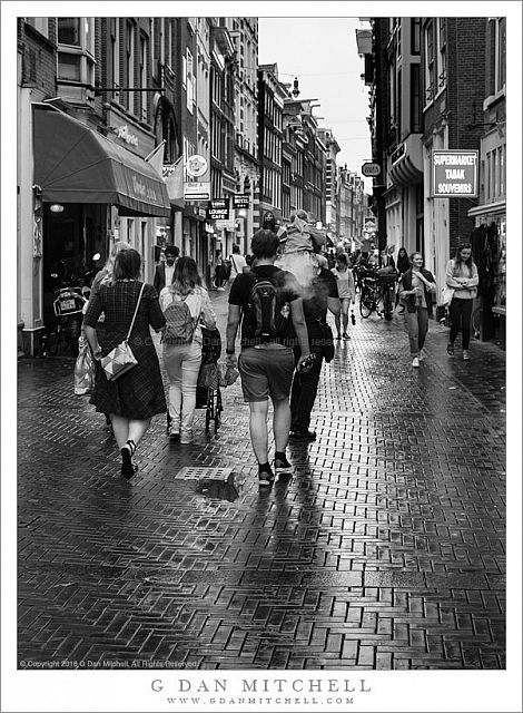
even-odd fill
[(164, 365), (169, 377), (169, 416), (172, 428), (190, 433), (196, 409), (196, 383), (201, 364), (201, 346), (164, 344)]

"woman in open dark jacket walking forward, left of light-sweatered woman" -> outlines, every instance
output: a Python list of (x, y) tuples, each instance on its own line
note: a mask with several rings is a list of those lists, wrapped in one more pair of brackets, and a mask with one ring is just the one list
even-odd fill
[(423, 267), (423, 255), (411, 255), (411, 267), (399, 280), (399, 300), (406, 307), (405, 323), (411, 344), (412, 365), (417, 369), (423, 361), (423, 346), (432, 315), (433, 296), (436, 293), (434, 275)]

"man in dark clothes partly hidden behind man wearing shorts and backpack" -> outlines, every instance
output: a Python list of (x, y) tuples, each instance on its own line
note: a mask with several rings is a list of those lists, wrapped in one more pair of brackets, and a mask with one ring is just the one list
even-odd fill
[[(316, 257), (313, 255), (310, 260), (315, 261)], [(295, 372), (290, 393), (290, 437), (304, 441), (316, 439), (316, 433), (309, 430), (310, 412), (318, 391), (327, 334), (330, 334), (330, 331), (325, 329), (327, 310), (336, 315), (342, 309), (333, 273), (319, 266), (316, 270), (316, 277), (304, 295), (305, 323), (307, 324), (310, 353), (315, 355), (315, 359), (309, 371)], [(295, 359), (297, 356), (295, 351)]]

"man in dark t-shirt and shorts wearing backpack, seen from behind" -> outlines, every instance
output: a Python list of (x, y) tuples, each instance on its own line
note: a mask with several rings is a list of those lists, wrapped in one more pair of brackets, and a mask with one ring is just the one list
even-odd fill
[[(293, 345), (300, 348), (297, 368), (309, 358), (307, 326), (295, 277), (274, 265), (279, 238), (269, 229), (255, 233), (250, 243), (256, 266), (238, 274), (229, 293), (227, 321), (227, 362), (241, 375), (244, 399), (250, 409), (250, 440), (258, 461), (260, 487), (292, 476), (285, 455), (290, 408), (289, 392), (294, 373)], [(241, 351), (235, 355), (235, 340), (241, 321)], [(268, 399), (273, 402), (275, 438), (274, 471), (268, 458)]]

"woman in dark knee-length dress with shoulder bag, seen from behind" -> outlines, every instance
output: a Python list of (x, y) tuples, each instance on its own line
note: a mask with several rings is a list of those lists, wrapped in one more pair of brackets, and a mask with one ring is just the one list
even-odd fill
[[(140, 281), (140, 272), (139, 253), (132, 248), (120, 251), (115, 257), (112, 279), (91, 293), (83, 320), (87, 339), (98, 362), (90, 403), (97, 411), (109, 413), (125, 478), (131, 478), (137, 471), (132, 456), (151, 418), (167, 410), (160, 365), (150, 335), (150, 328), (159, 332), (165, 319), (155, 287)], [(128, 343), (138, 363), (116, 381), (108, 381), (100, 359), (127, 338), (135, 311)], [(102, 312), (105, 331), (99, 341), (97, 322)]]

